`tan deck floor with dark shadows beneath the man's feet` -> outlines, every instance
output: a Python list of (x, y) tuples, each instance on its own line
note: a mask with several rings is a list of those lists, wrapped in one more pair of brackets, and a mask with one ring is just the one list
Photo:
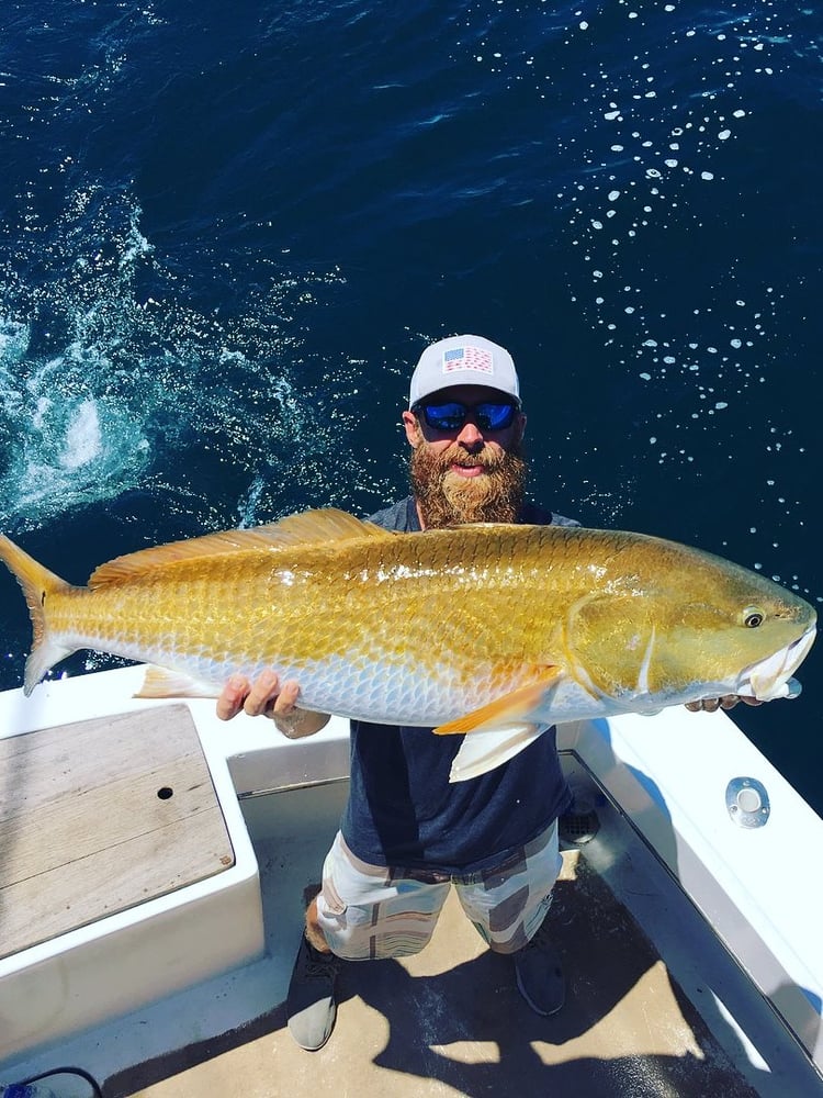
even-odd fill
[[(110, 1076), (108, 1098), (757, 1093), (715, 1039), (717, 1018), (710, 1011), (708, 1024), (700, 1017), (586, 848), (564, 853), (550, 916), (568, 979), (560, 1015), (529, 1010), (510, 960), (486, 950), (452, 894), (422, 953), (345, 965), (330, 1041), (317, 1053), (297, 1049), (286, 1029), (286, 987), (304, 894), (316, 886), (345, 792), (340, 785), (246, 804), (263, 876), (270, 1007), (245, 1026), (204, 1032), (179, 1052)], [(193, 1002), (187, 996), (180, 1006)]]

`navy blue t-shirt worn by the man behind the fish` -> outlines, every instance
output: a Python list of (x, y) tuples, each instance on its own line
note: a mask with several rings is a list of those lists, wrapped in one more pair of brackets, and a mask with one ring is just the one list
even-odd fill
[[(372, 515), (405, 533), (420, 529), (412, 496)], [(521, 523), (577, 525), (527, 504)], [(505, 860), (564, 813), (571, 794), (550, 728), (509, 762), (449, 782), (462, 736), (351, 721), (351, 786), (341, 830), (372, 865), (475, 873)]]

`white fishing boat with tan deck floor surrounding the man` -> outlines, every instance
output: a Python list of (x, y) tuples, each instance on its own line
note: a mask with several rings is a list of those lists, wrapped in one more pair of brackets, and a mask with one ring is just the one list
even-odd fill
[[(575, 843), (566, 829), (549, 916), (567, 977), (559, 1015), (540, 1018), (529, 1010), (510, 959), (486, 949), (452, 895), (430, 945), (417, 956), (342, 966), (336, 1029), (324, 1049), (306, 1053), (289, 1033), (285, 997), (305, 904), (318, 887), (348, 795), (348, 729), (340, 722), (290, 742), (272, 739), (264, 724), (250, 719), (238, 718), (227, 730), (213, 706), (201, 704), (198, 732), (208, 781), (185, 721), (179, 736), (170, 735), (169, 721), (181, 717), (174, 706), (151, 708), (150, 716), (135, 702), (133, 720), (121, 725), (133, 671), (138, 669), (102, 673), (92, 692), (67, 680), (44, 687), (33, 702), (20, 692), (0, 698), (7, 757), (0, 785), (10, 794), (7, 809), (16, 814), (13, 834), (8, 828), (0, 833), (7, 874), (0, 876), (0, 912), (24, 942), (35, 943), (5, 957), (0, 949), (0, 1096), (14, 1083), (74, 1065), (98, 1080), (105, 1098), (314, 1098), (318, 1091), (481, 1098), (509, 1088), (575, 1098), (823, 1098), (809, 1053), (820, 1039), (820, 939), (805, 903), (814, 886), (801, 872), (808, 860), (787, 842), (794, 832), (786, 830), (802, 816), (810, 833), (823, 837), (821, 824), (771, 773), (765, 775), (775, 809), (769, 828), (745, 832), (729, 820), (718, 800), (729, 773), (764, 775), (764, 768), (746, 754), (726, 717), (686, 715), (683, 741), (677, 715), (667, 717), (665, 737), (651, 726), (632, 727), (631, 743), (617, 724), (608, 736), (598, 728), (566, 729), (563, 766), (578, 803), (596, 809), (599, 830)], [(56, 750), (61, 739), (41, 731), (15, 736), (54, 728), (68, 712), (77, 719), (116, 718), (103, 739), (114, 752), (120, 738), (120, 761), (103, 765), (101, 750), (86, 739), (83, 750), (72, 750), (75, 738), (89, 731), (74, 724), (64, 729), (71, 765), (52, 761), (34, 781), (40, 771), (29, 749), (41, 743)], [(159, 746), (147, 750), (149, 735)], [(730, 735), (731, 771), (722, 761)], [(124, 770), (127, 759), (131, 770)], [(184, 759), (192, 765), (178, 772)], [(722, 765), (709, 781), (706, 771), (715, 759)], [(692, 761), (688, 789), (697, 793), (686, 796), (687, 785), (669, 770), (679, 777)], [(143, 815), (117, 792), (127, 775), (132, 789), (135, 774)], [(68, 783), (58, 800), (49, 775)], [(230, 856), (222, 829), (201, 826), (205, 818), (213, 822), (215, 796)], [(81, 800), (90, 805), (91, 824), (69, 833), (66, 821), (76, 820)], [(45, 813), (36, 826), (26, 825), (26, 805)], [(174, 838), (183, 822), (187, 833), (193, 829), (203, 840), (205, 869), (189, 864), (188, 848)], [(12, 888), (29, 887), (32, 865), (43, 881), (53, 879), (50, 862), (32, 861), (32, 852), (40, 838), (38, 859), (50, 858), (58, 832), (67, 851), (61, 864), (74, 864), (72, 836), (80, 834), (89, 849), (78, 865), (102, 859), (106, 867), (93, 874), (102, 886), (131, 881), (146, 858), (127, 851), (142, 850), (145, 838), (158, 895), (137, 903), (132, 896), (133, 906), (100, 918), (76, 908), (78, 929), (40, 942), (36, 912), (53, 910), (50, 885), (26, 894), (25, 907), (3, 908), (3, 894), (8, 900)], [(181, 856), (192, 878), (183, 886)], [(225, 870), (213, 872), (217, 864)], [(745, 871), (745, 890), (732, 875), (737, 867)], [(111, 888), (99, 893), (111, 903)], [(77, 894), (94, 900), (95, 894)], [(768, 938), (752, 919), (766, 915)], [(764, 950), (765, 941), (775, 953)], [(799, 941), (805, 966), (787, 953)], [(736, 959), (723, 942), (734, 943)], [(778, 952), (802, 975), (787, 976), (775, 963)], [(805, 1029), (792, 1030), (792, 1019)], [(91, 1089), (63, 1074), (44, 1080), (37, 1094), (89, 1098)]]

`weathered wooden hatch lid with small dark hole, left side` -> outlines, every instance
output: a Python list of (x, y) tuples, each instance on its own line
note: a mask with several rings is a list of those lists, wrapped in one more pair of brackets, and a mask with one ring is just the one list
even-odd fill
[(0, 959), (234, 863), (188, 706), (0, 739)]

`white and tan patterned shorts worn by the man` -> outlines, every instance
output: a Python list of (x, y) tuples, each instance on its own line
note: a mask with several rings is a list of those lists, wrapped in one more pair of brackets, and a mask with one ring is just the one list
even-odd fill
[(464, 875), (370, 865), (338, 831), (323, 866), (317, 918), (331, 951), (347, 961), (408, 956), (428, 943), (454, 885), (489, 948), (514, 953), (540, 928), (561, 865), (556, 821), (499, 865)]

